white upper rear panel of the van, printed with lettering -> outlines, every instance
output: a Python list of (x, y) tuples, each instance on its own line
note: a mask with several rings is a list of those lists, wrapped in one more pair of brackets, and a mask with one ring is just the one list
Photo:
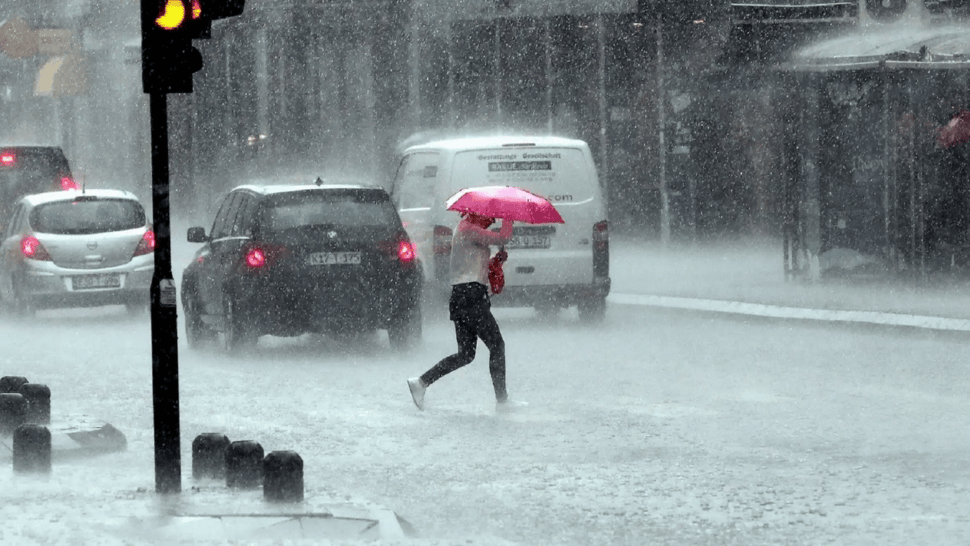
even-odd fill
[(453, 179), (462, 188), (516, 186), (568, 203), (593, 197), (589, 172), (576, 148), (478, 150), (455, 154)]

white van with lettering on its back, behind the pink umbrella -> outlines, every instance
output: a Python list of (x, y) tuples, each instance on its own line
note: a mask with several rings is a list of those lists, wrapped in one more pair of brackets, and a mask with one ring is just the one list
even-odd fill
[(451, 238), (460, 217), (445, 210), (445, 200), (463, 188), (506, 185), (546, 197), (566, 223), (516, 222), (505, 246), (505, 290), (492, 305), (542, 312), (576, 305), (583, 320), (601, 319), (610, 291), (609, 223), (596, 165), (581, 140), (468, 137), (407, 148), (391, 197), (417, 247), (426, 285), (450, 287)]

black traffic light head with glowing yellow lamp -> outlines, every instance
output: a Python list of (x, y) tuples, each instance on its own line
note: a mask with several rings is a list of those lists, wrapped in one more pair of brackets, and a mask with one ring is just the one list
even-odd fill
[(202, 68), (193, 39), (208, 38), (212, 21), (241, 15), (245, 0), (141, 0), (142, 86), (146, 93), (191, 93)]

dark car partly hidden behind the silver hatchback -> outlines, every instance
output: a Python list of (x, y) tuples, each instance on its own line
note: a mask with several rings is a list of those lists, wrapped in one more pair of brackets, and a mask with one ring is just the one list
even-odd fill
[(0, 231), (21, 197), (79, 187), (59, 147), (0, 146)]

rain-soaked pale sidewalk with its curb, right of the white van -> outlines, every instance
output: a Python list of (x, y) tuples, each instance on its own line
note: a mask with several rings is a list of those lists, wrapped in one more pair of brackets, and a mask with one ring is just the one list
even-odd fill
[(970, 332), (970, 279), (786, 281), (780, 240), (610, 242), (614, 305)]

